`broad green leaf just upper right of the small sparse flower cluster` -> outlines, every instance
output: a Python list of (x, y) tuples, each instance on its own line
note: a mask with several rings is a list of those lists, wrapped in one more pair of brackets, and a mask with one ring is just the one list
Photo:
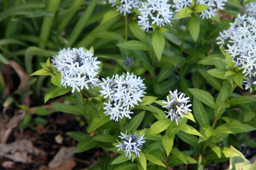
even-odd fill
[(209, 92), (197, 88), (189, 88), (188, 90), (198, 100), (216, 110), (214, 98)]

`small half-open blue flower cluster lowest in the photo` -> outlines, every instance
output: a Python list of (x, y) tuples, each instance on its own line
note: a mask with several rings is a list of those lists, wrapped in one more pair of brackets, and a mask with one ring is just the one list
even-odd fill
[(118, 148), (118, 151), (120, 151), (120, 150), (123, 151), (123, 148), (125, 148), (124, 154), (126, 154), (126, 156), (127, 156), (129, 153), (128, 159), (131, 159), (132, 152), (134, 152), (136, 156), (140, 157), (139, 151), (141, 151), (140, 148), (142, 148), (143, 143), (145, 143), (144, 139), (146, 139), (146, 138), (143, 138), (144, 135), (142, 135), (142, 134), (140, 136), (138, 136), (137, 132), (135, 132), (135, 135), (133, 135), (131, 133), (129, 133), (129, 135), (126, 135), (126, 133), (127, 133), (127, 130), (126, 130), (125, 134), (121, 133), (122, 136), (118, 136), (124, 140), (121, 141), (122, 143), (117, 140), (119, 145), (116, 145), (115, 147), (120, 147), (120, 148)]

